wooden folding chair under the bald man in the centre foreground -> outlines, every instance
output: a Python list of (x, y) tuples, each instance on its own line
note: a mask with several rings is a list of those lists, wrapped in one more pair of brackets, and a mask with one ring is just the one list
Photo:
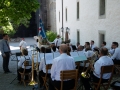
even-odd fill
[[(75, 86), (71, 90), (76, 90), (77, 81), (78, 81), (78, 69), (61, 71), (60, 72), (60, 79), (61, 79), (61, 88), (60, 88), (60, 90), (63, 90), (63, 81), (67, 80), (67, 79), (74, 79), (75, 80)], [(56, 87), (55, 87), (55, 89), (58, 90)]]

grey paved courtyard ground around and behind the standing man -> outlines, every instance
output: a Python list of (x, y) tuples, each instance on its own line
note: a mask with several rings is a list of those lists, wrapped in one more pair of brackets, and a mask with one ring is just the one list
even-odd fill
[[(28, 44), (28, 48), (29, 48), (29, 45), (36, 44), (35, 40), (32, 37), (25, 38), (25, 41)], [(10, 42), (10, 48), (11, 48), (12, 53), (19, 52), (19, 42)], [(16, 74), (17, 62), (16, 61), (10, 60), (9, 68), (12, 71), (12, 73), (8, 73), (8, 74), (4, 74), (3, 68), (2, 68), (2, 62), (3, 62), (3, 60), (2, 60), (2, 57), (0, 54), (0, 90), (32, 90), (33, 86), (27, 85), (25, 87), (24, 84), (19, 84), (17, 79), (15, 79), (17, 76), (17, 74)], [(119, 75), (118, 76), (114, 75), (113, 81), (115, 81), (115, 80), (120, 80)]]

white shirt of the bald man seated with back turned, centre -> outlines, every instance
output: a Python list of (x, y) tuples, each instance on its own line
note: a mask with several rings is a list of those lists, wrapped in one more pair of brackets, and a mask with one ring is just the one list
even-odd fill
[(60, 81), (60, 71), (74, 70), (74, 69), (75, 69), (75, 61), (73, 57), (63, 53), (59, 57), (53, 60), (53, 64), (51, 68), (51, 78), (52, 80)]

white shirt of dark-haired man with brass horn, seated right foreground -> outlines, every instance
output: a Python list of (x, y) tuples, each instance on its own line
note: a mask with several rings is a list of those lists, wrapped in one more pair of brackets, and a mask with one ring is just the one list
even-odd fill
[[(107, 65), (113, 65), (113, 61), (110, 57), (108, 56), (102, 56), (99, 58), (99, 60), (97, 60), (94, 64), (94, 72), (93, 74), (100, 78), (100, 75), (101, 75), (101, 67), (102, 66), (107, 66)], [(106, 74), (103, 74), (103, 79), (109, 79), (110, 78), (110, 75), (111, 73), (106, 73)]]

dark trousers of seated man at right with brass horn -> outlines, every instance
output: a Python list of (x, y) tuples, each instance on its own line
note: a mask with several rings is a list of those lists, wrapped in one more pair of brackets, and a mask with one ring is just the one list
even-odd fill
[[(89, 81), (92, 81), (94, 83), (98, 83), (100, 80), (100, 78), (96, 77), (95, 75), (91, 74), (91, 78), (84, 78), (81, 76), (81, 81), (84, 85), (84, 88), (85, 90), (91, 90), (91, 86), (90, 86), (90, 83)], [(108, 82), (108, 79), (102, 79), (102, 82), (101, 83), (105, 83), (105, 82)]]

